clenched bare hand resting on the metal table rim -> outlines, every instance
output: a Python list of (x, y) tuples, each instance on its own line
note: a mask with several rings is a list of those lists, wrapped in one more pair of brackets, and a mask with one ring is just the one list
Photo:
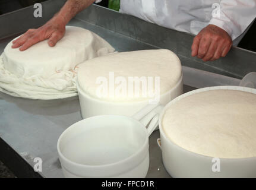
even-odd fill
[(215, 61), (225, 57), (232, 47), (229, 34), (213, 24), (209, 24), (197, 36), (191, 46), (191, 56), (197, 56), (203, 61)]

